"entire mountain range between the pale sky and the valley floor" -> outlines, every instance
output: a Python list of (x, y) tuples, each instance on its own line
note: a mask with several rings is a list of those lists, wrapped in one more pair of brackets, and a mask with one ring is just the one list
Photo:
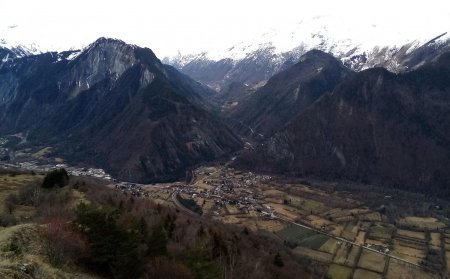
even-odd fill
[(313, 41), (172, 66), (115, 39), (3, 48), (0, 135), (127, 181), (175, 180), (239, 151), (238, 168), (448, 195), (448, 35), (370, 51)]

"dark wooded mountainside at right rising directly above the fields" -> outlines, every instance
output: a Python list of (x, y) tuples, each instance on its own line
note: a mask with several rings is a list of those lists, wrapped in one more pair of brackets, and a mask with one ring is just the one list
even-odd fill
[(444, 194), (450, 182), (450, 53), (405, 74), (363, 71), (247, 150), (258, 171)]

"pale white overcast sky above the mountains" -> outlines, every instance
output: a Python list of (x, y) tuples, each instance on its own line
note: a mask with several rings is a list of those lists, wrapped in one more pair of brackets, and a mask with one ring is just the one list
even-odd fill
[(231, 46), (270, 28), (332, 14), (358, 22), (389, 22), (414, 32), (450, 31), (450, 1), (400, 0), (14, 0), (4, 1), (0, 39), (46, 50), (82, 47), (101, 36), (152, 48), (159, 57)]

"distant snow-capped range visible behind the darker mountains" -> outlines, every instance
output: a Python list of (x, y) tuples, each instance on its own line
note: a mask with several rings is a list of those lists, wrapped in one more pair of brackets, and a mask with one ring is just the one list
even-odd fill
[(313, 17), (223, 50), (179, 54), (163, 62), (214, 89), (213, 101), (227, 111), (313, 49), (333, 55), (353, 71), (383, 67), (394, 73), (417, 69), (450, 50), (447, 30), (413, 37), (392, 35), (375, 25), (354, 26), (341, 18)]

